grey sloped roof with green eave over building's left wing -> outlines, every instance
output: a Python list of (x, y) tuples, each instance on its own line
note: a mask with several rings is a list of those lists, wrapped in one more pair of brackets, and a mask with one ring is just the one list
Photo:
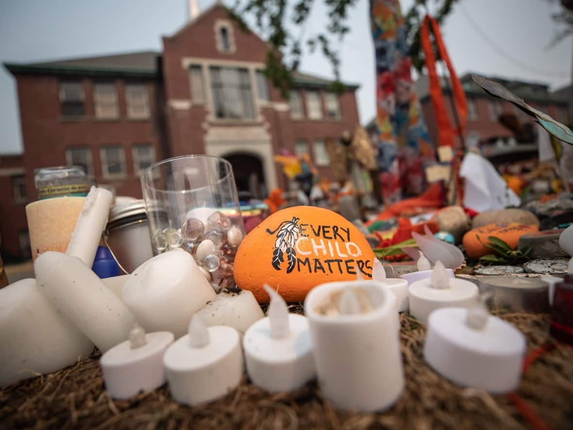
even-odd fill
[(159, 52), (142, 51), (26, 64), (5, 63), (4, 66), (14, 74), (156, 77), (160, 57)]

